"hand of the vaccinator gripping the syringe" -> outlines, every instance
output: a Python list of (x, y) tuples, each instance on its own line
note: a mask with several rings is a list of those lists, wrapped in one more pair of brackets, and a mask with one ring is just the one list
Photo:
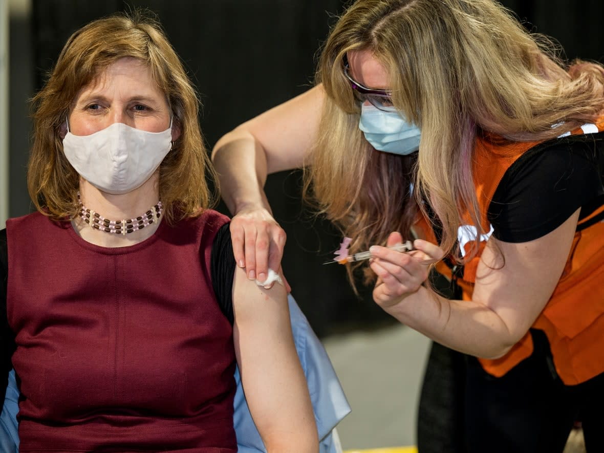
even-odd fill
[[(390, 233), (387, 245), (402, 242), (400, 233)], [(428, 241), (416, 239), (414, 250), (401, 253), (387, 247), (371, 246), (370, 267), (377, 275), (373, 300), (388, 309), (416, 292), (428, 278), (428, 266), (442, 259), (443, 250)]]

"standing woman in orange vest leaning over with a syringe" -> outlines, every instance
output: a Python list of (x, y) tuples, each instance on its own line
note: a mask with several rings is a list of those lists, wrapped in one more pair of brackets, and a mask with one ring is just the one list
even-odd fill
[(284, 242), (266, 174), (304, 167), (352, 251), (423, 238), (371, 247), (373, 297), (471, 356), (469, 451), (561, 452), (577, 417), (602, 451), (604, 68), (565, 66), (491, 0), (357, 0), (317, 82), (214, 147), (248, 277)]

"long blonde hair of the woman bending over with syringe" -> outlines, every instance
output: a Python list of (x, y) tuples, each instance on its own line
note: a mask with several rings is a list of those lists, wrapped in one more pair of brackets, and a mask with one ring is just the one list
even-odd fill
[[(415, 201), (410, 158), (371, 149), (358, 130), (360, 108), (342, 70), (353, 50), (368, 50), (384, 65), (394, 105), (422, 129)], [(417, 206), (425, 211), (426, 200), (442, 223), (441, 246), (454, 252), (464, 213), (477, 238), (485, 233), (472, 178), (478, 131), (545, 140), (604, 108), (601, 65), (577, 60), (566, 68), (549, 40), (527, 33), (492, 0), (358, 0), (333, 27), (316, 82), (327, 101), (307, 195), (312, 191), (320, 210), (363, 248), (384, 242), (389, 231), (409, 234), (403, 227)]]

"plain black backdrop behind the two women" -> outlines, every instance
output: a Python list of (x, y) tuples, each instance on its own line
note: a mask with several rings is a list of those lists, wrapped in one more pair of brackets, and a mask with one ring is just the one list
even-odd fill
[[(25, 165), (31, 124), (27, 99), (40, 88), (66, 39), (114, 11), (154, 11), (201, 95), (208, 149), (237, 124), (312, 85), (316, 56), (341, 0), (33, 0), (28, 14), (10, 17), (10, 216), (31, 209)], [(532, 31), (561, 43), (568, 59), (604, 61), (604, 2), (507, 0)], [(100, 37), (99, 39), (102, 39)], [(342, 266), (323, 266), (340, 237), (300, 201), (300, 172), (269, 176), (266, 192), (288, 234), (283, 268), (292, 294), (319, 336), (393, 322), (356, 297)], [(224, 205), (218, 210), (227, 213)]]

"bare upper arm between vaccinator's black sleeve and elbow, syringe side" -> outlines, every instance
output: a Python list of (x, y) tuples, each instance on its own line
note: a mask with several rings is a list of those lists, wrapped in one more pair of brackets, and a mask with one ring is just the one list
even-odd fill
[(496, 312), (516, 341), (535, 322), (560, 280), (579, 212), (539, 239), (509, 243), (490, 237), (484, 248), (472, 300)]

